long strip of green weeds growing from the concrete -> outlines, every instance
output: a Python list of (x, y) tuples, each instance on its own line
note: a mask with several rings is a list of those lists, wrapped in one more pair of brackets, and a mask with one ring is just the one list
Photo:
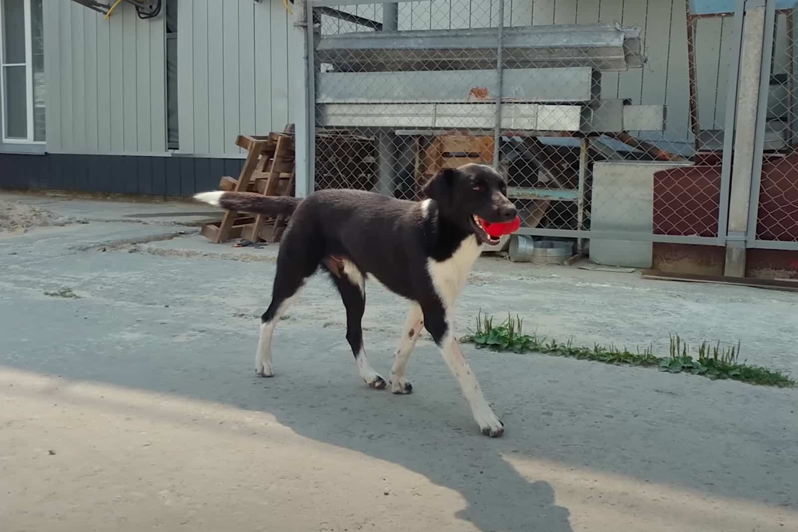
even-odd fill
[(760, 366), (749, 366), (745, 362), (738, 362), (740, 358), (740, 343), (736, 346), (721, 346), (721, 342), (714, 345), (701, 342), (693, 358), (693, 350), (682, 340), (678, 334), (670, 335), (670, 353), (667, 357), (654, 354), (654, 346), (650, 345), (643, 350), (636, 348), (634, 352), (614, 345), (592, 347), (576, 346), (573, 338), (566, 343), (560, 343), (555, 338), (547, 339), (536, 333), (524, 334), (523, 319), (508, 314), (502, 323), (495, 324), (493, 316), (483, 315), (482, 311), (476, 316), (476, 331), (461, 338), (463, 342), (471, 342), (479, 349), (494, 351), (512, 351), (514, 353), (543, 353), (561, 357), (578, 358), (579, 360), (594, 360), (606, 364), (625, 366), (656, 367), (660, 371), (672, 374), (693, 374), (709, 377), (711, 379), (731, 379), (733, 381), (748, 382), (764, 386), (777, 386), (788, 388), (796, 385), (796, 381), (776, 370), (768, 370)]

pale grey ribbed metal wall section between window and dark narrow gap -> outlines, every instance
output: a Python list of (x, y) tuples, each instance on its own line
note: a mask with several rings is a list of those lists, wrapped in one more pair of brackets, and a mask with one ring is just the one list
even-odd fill
[(48, 151), (165, 152), (164, 18), (75, 2), (43, 2), (43, 16)]

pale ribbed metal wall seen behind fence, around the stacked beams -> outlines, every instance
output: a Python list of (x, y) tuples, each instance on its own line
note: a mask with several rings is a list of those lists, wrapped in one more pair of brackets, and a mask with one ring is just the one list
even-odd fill
[[(434, 0), (399, 4), (399, 28), (449, 29), (495, 27), (500, 0)], [(360, 17), (382, 22), (381, 5), (339, 7)], [(788, 65), (786, 25), (778, 21), (776, 65)], [(504, 25), (614, 24), (642, 29), (645, 68), (602, 72), (602, 98), (631, 100), (633, 104), (665, 105), (668, 110), (664, 144), (688, 143), (689, 86), (684, 0), (504, 0)], [(726, 72), (731, 48), (731, 19), (697, 21), (697, 98), (703, 129), (723, 127)], [(323, 17), (322, 33), (364, 31), (362, 26)], [(662, 141), (662, 134), (643, 138)], [(662, 142), (659, 142), (662, 144)]]

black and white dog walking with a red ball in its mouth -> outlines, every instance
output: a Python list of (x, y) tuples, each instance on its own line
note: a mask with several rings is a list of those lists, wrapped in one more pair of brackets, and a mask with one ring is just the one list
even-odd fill
[[(486, 224), (510, 221), (516, 207), (507, 186), (490, 166), (468, 164), (442, 170), (425, 186), (424, 201), (404, 201), (359, 190), (320, 190), (307, 198), (269, 198), (240, 192), (203, 192), (195, 198), (244, 213), (291, 214), (282, 237), (271, 304), (263, 314), (255, 371), (272, 376), (271, 336), (290, 300), (318, 268), (330, 273), (346, 307), (346, 339), (363, 380), (372, 388), (390, 385), (410, 393), (408, 358), (426, 327), (440, 347), (471, 405), (480, 430), (501, 436), (493, 413), (452, 331), (452, 311), (482, 244), (498, 239)], [(388, 383), (369, 366), (361, 318), (365, 277), (409, 299)]]

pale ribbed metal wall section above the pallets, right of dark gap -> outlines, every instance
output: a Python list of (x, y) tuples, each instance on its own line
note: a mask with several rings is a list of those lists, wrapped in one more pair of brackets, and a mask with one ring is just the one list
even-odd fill
[(238, 156), (239, 133), (282, 131), (302, 98), (302, 32), (292, 27), (300, 7), (292, 18), (279, 0), (177, 6), (179, 151)]

